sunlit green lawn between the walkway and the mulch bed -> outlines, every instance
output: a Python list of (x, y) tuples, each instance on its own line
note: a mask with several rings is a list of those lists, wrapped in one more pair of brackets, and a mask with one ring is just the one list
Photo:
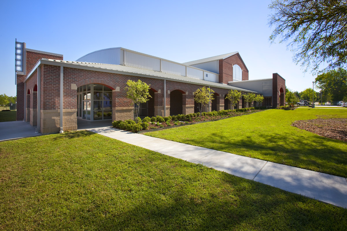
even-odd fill
[(336, 109), (271, 109), (145, 135), (347, 177), (347, 143), (291, 126), (296, 120), (347, 118)]

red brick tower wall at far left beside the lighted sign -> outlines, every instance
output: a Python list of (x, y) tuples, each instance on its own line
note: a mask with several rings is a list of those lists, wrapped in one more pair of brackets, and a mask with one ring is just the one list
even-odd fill
[(39, 52), (26, 51), (25, 58), (25, 75), (17, 75), (17, 121), (21, 121), (24, 118), (24, 79), (28, 73), (33, 69), (37, 61), (40, 59), (56, 59), (63, 60), (63, 56), (51, 55), (51, 54), (43, 54)]

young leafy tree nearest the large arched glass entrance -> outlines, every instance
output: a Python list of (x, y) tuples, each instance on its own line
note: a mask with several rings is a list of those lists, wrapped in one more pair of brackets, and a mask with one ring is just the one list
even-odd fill
[(137, 82), (128, 80), (127, 81), (127, 98), (133, 100), (134, 105), (136, 105), (134, 112), (134, 121), (137, 123), (137, 117), (139, 112), (139, 105), (141, 103), (146, 103), (149, 100), (149, 97), (152, 96), (149, 93), (150, 85), (147, 83), (138, 80)]

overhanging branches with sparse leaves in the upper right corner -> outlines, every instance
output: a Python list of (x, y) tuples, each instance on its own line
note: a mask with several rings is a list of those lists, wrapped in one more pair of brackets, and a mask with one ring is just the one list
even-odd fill
[(287, 42), (294, 61), (313, 71), (322, 62), (328, 69), (346, 67), (346, 0), (273, 0), (269, 9), (269, 25), (275, 27), (270, 41)]

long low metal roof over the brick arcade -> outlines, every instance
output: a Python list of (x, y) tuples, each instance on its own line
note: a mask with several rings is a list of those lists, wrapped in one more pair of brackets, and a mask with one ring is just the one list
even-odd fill
[(104, 63), (86, 63), (86, 62), (76, 62), (76, 61), (65, 61), (65, 60), (52, 60), (52, 59), (41, 59), (39, 60), (35, 67), (32, 69), (32, 71), (27, 75), (27, 78), (24, 81), (27, 81), (31, 77), (31, 75), (35, 72), (36, 68), (40, 66), (41, 64), (48, 64), (48, 65), (57, 65), (57, 66), (66, 66), (70, 68), (77, 68), (77, 69), (87, 69), (87, 70), (93, 70), (93, 71), (102, 71), (102, 72), (109, 72), (109, 73), (119, 73), (119, 74), (128, 74), (128, 75), (135, 75), (135, 76), (141, 76), (141, 77), (150, 77), (150, 78), (156, 78), (156, 79), (166, 79), (166, 80), (172, 80), (177, 82), (186, 82), (186, 83), (192, 83), (192, 84), (198, 84), (203, 86), (213, 86), (213, 87), (219, 87), (219, 88), (225, 88), (225, 89), (233, 89), (238, 91), (246, 91), (246, 92), (254, 92), (259, 93), (256, 91), (251, 91), (243, 88), (238, 88), (222, 83), (215, 83), (211, 81), (206, 81), (202, 79), (195, 79), (192, 77), (185, 77), (181, 75), (171, 74), (171, 73), (165, 73), (160, 71), (152, 71), (142, 68), (136, 68), (133, 66), (126, 66), (126, 65), (115, 65), (115, 64), (104, 64)]

